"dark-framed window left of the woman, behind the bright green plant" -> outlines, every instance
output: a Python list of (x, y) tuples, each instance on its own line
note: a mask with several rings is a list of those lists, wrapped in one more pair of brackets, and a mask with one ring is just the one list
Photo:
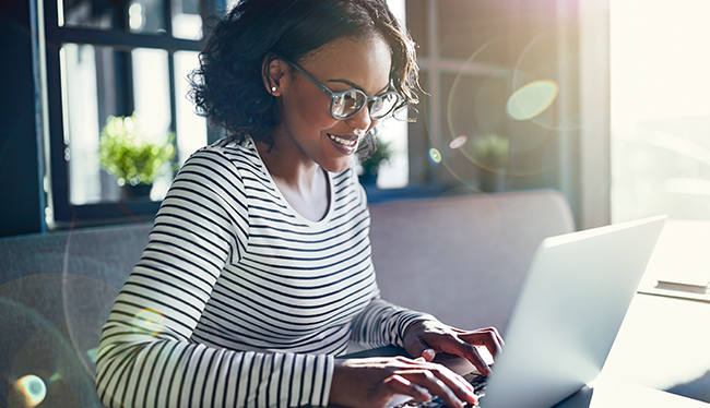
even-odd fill
[[(173, 168), (208, 143), (205, 120), (186, 99), (198, 64), (204, 0), (58, 0), (44, 3), (50, 129), (48, 224), (151, 219)], [(147, 196), (125, 193), (99, 164), (109, 117), (134, 115), (147, 136), (177, 154)], [(174, 137), (171, 139), (171, 135)]]

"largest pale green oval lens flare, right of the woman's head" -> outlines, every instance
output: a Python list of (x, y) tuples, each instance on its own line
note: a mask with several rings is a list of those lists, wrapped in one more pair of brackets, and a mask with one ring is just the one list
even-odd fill
[(516, 120), (528, 120), (545, 111), (557, 98), (559, 86), (555, 81), (530, 82), (516, 91), (506, 104), (506, 112)]

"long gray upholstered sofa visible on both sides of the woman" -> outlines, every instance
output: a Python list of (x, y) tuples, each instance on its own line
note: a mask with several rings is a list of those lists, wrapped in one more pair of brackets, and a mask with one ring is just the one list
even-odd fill
[[(555, 191), (389, 202), (371, 206), (384, 298), (461, 327), (505, 329), (539, 242), (573, 229)], [(100, 327), (151, 226), (134, 224), (0, 239), (0, 406), (100, 407)], [(32, 396), (31, 396), (32, 397)]]

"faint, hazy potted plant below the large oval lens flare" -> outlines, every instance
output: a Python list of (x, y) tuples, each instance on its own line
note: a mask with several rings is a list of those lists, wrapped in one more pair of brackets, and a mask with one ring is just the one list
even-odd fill
[(474, 141), (476, 164), (481, 167), (481, 190), (505, 190), (505, 170), (510, 155), (510, 142), (497, 134), (487, 134)]

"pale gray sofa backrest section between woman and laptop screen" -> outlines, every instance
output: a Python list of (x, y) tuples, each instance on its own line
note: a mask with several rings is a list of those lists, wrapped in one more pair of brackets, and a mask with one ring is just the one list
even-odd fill
[(539, 243), (575, 229), (557, 191), (389, 202), (370, 207), (382, 297), (461, 328), (505, 331)]

